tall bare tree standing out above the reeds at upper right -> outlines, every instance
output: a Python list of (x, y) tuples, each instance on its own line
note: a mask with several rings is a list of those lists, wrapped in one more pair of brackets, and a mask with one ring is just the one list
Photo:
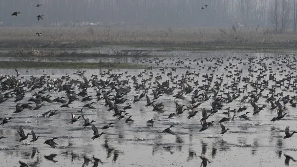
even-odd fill
[(287, 0), (273, 0), (271, 9), (268, 12), (275, 31), (286, 31), (289, 25), (289, 2)]

